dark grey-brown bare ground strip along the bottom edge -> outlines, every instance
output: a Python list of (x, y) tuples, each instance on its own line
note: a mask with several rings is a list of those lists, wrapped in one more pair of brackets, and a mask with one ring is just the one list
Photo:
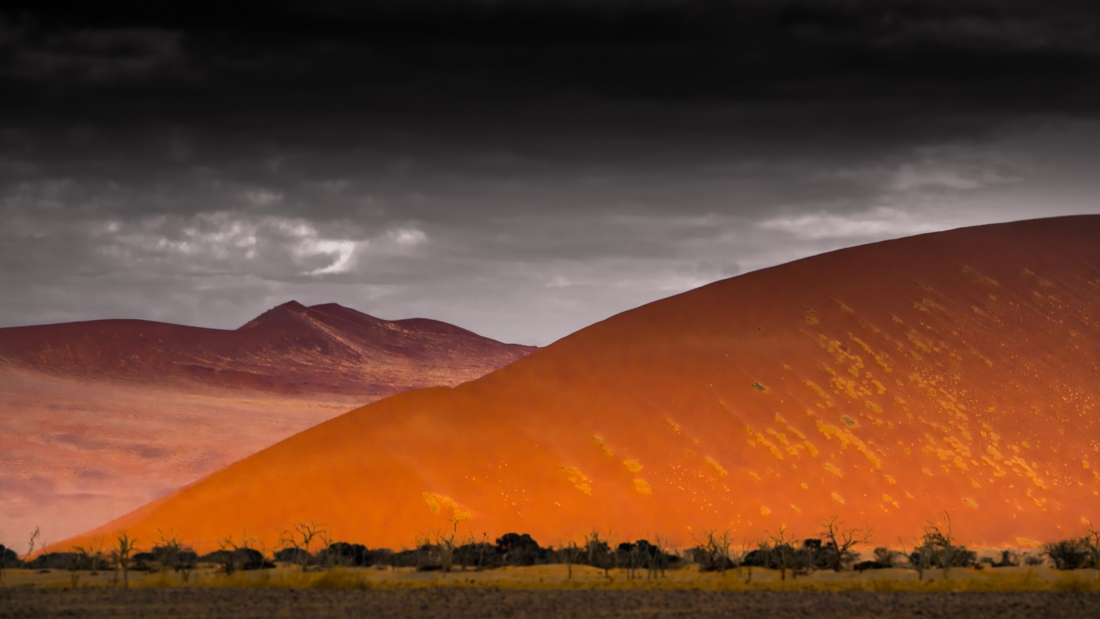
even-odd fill
[(0, 617), (1100, 617), (1096, 593), (0, 589)]

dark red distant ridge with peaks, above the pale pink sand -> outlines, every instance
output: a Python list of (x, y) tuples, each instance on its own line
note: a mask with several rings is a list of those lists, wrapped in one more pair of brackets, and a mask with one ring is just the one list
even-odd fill
[(55, 376), (363, 401), (458, 384), (532, 350), (438, 321), (383, 321), (336, 303), (296, 301), (237, 330), (125, 319), (0, 328), (0, 363)]

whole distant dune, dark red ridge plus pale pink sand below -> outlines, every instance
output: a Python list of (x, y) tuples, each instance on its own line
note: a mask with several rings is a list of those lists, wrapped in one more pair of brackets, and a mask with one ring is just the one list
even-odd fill
[(145, 321), (0, 329), (0, 543), (57, 540), (352, 406), (534, 348), (290, 302), (237, 330)]

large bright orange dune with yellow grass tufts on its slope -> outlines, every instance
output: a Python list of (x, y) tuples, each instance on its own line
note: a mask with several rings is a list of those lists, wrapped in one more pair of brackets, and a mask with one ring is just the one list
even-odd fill
[(358, 409), (99, 533), (273, 547), (593, 528), (910, 543), (1100, 522), (1100, 217), (953, 230), (748, 273), (620, 314), (454, 389)]

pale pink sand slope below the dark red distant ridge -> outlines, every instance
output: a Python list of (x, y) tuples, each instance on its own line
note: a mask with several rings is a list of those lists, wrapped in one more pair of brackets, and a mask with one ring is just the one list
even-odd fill
[[(0, 543), (113, 520), (363, 402), (0, 371)], [(186, 428), (186, 431), (182, 430)]]

